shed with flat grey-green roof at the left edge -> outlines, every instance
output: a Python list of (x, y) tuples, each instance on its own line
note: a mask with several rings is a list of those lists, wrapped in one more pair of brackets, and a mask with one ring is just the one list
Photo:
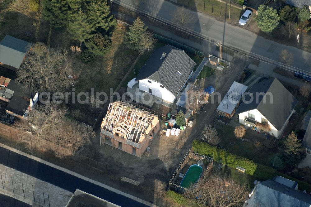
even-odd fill
[(29, 42), (7, 35), (0, 41), (0, 66), (16, 71), (25, 60)]

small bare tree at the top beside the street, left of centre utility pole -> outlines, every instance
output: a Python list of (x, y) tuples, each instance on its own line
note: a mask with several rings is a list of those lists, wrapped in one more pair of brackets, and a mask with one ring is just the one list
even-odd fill
[(172, 14), (172, 21), (181, 27), (189, 27), (194, 24), (194, 15), (185, 7), (178, 7)]

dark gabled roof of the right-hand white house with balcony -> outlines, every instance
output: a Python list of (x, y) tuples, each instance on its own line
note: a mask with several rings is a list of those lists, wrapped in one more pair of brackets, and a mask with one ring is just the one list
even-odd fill
[[(265, 93), (265, 95), (260, 95), (257, 99), (258, 101), (256, 101), (256, 93), (261, 92)], [(257, 108), (258, 111), (279, 131), (282, 129), (284, 123), (298, 102), (276, 78), (272, 80), (261, 80), (253, 85), (249, 90), (249, 93), (253, 94), (253, 101), (250, 103), (241, 103), (236, 113), (243, 113)], [(269, 94), (272, 94), (272, 96)], [(263, 99), (263, 97), (265, 97), (265, 99)], [(251, 96), (246, 95), (245, 100), (250, 101)], [(264, 100), (266, 101), (264, 102)]]

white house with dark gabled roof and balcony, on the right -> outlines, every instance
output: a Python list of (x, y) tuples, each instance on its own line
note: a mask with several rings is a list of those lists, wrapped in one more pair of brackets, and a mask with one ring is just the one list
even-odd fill
[(287, 125), (297, 99), (278, 79), (262, 79), (254, 84), (243, 97), (243, 103), (236, 111), (239, 123), (279, 137)]

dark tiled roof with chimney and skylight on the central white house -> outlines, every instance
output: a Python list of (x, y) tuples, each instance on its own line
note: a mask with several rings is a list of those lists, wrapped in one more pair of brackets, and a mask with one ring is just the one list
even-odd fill
[[(165, 58), (161, 58), (163, 52)], [(167, 45), (156, 49), (145, 65), (142, 66), (136, 80), (151, 79), (161, 83), (175, 96), (188, 79), (196, 63), (183, 51)], [(182, 75), (177, 74), (177, 70)]]

